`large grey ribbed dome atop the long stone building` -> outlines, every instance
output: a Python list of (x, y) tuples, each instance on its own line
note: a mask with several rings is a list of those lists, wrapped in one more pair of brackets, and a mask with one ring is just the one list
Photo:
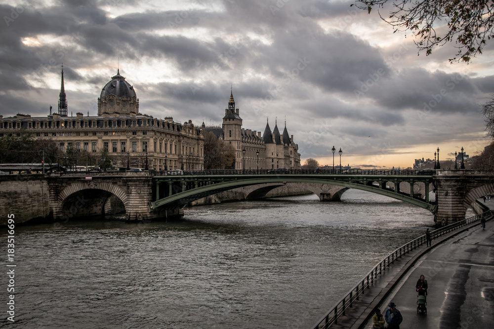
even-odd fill
[(98, 98), (98, 115), (103, 113), (128, 115), (138, 112), (139, 100), (134, 88), (120, 75), (120, 70), (117, 70), (117, 75), (112, 76), (112, 80), (101, 90)]

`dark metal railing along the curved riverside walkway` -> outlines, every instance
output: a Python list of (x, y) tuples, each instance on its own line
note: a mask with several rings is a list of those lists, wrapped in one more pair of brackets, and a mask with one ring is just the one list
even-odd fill
[[(446, 234), (448, 232), (451, 232), (461, 226), (470, 224), (474, 221), (480, 220), (482, 218), (488, 218), (493, 215), (493, 212), (491, 210), (480, 214), (476, 215), (467, 219), (463, 219), (460, 221), (457, 221), (453, 224), (441, 227), (439, 229), (436, 229), (434, 231), (431, 231), (431, 238), (437, 238), (443, 234)], [(374, 280), (377, 278), (378, 275), (381, 275), (383, 271), (386, 271), (386, 267), (389, 268), (390, 264), (393, 264), (395, 260), (398, 258), (401, 258), (403, 255), (411, 252), (413, 249), (418, 248), (419, 246), (423, 245), (426, 242), (425, 235), (422, 235), (415, 240), (412, 240), (405, 245), (401, 246), (400, 248), (397, 248), (391, 254), (388, 256), (385, 256), (377, 265), (375, 265), (369, 273), (367, 273), (366, 276), (362, 280), (357, 283), (355, 287), (353, 287), (349, 292), (343, 296), (330, 310), (326, 315), (320, 319), (316, 325), (314, 325), (311, 328), (314, 329), (328, 329), (330, 326), (333, 324), (338, 324), (338, 318), (340, 316), (345, 315), (345, 311), (348, 308), (353, 307), (353, 302), (356, 300), (359, 300), (359, 296), (365, 293), (366, 288), (369, 288), (373, 283)]]

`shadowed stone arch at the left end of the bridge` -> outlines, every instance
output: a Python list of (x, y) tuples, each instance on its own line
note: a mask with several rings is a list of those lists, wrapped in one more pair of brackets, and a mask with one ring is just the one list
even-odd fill
[[(112, 196), (118, 201), (115, 202)], [(125, 210), (128, 197), (121, 187), (111, 183), (100, 183), (97, 186), (72, 183), (58, 194), (57, 203), (57, 217), (86, 217), (110, 214), (112, 203), (114, 205), (117, 203), (117, 208)], [(120, 207), (119, 203), (121, 203)]]

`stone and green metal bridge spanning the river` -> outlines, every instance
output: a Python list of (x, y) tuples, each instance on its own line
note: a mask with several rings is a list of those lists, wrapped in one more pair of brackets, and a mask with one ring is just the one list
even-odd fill
[[(208, 175), (206, 175), (206, 173)], [(412, 171), (291, 171), (95, 172), (0, 177), (1, 212), (19, 221), (105, 215), (122, 211), (127, 220), (163, 219), (183, 214), (183, 206), (201, 198), (227, 193), (235, 200), (259, 199), (277, 188), (296, 186), (321, 201), (336, 201), (349, 188), (403, 200), (435, 215), (437, 224), (464, 219), (468, 207), (494, 193), (493, 176), (484, 172), (439, 170), (434, 176)], [(284, 187), (282, 187), (284, 186)], [(429, 191), (436, 197), (429, 200)], [(474, 208), (477, 210), (477, 208)], [(0, 224), (5, 224), (5, 217)], [(17, 222), (19, 222), (17, 221)]]

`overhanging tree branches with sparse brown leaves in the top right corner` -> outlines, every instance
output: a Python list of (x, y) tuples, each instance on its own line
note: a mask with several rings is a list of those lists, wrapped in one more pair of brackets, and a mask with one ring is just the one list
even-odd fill
[[(370, 14), (373, 7), (383, 8), (387, 3), (393, 9), (385, 17), (379, 12), (381, 19), (396, 28), (393, 33), (410, 31), (417, 38), (417, 48), (426, 55), (435, 46), (454, 41), (457, 57), (450, 62), (469, 62), (482, 54), (487, 40), (494, 37), (492, 0), (357, 0), (356, 6)], [(442, 22), (447, 25), (444, 33)]]

